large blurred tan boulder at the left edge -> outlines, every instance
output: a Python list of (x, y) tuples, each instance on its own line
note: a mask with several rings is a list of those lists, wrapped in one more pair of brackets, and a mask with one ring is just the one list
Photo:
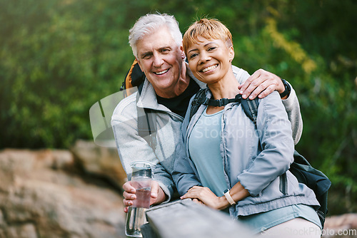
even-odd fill
[(125, 237), (121, 195), (74, 166), (66, 150), (0, 151), (0, 238)]

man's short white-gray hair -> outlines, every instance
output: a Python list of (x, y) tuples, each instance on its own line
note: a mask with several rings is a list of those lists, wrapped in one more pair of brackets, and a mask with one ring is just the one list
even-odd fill
[(177, 46), (181, 46), (182, 33), (178, 28), (178, 22), (174, 16), (168, 14), (146, 14), (141, 16), (133, 28), (129, 30), (129, 44), (133, 50), (134, 56), (138, 58), (138, 49), (136, 43), (149, 33), (154, 33), (161, 27), (166, 26), (171, 33), (172, 38), (176, 42)]

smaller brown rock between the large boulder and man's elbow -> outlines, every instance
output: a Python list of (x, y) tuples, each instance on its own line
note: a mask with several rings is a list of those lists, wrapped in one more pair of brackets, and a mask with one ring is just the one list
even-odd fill
[(77, 140), (71, 152), (86, 172), (107, 177), (118, 187), (126, 182), (126, 173), (116, 148), (104, 148), (92, 141)]

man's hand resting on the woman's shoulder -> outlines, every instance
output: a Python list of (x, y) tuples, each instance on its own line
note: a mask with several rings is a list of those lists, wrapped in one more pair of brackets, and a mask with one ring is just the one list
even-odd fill
[[(281, 78), (273, 73), (264, 71), (263, 69), (258, 69), (255, 71), (242, 85), (238, 86), (242, 98), (254, 99), (258, 95), (258, 98), (265, 98), (274, 90), (278, 93), (283, 93), (285, 87)], [(282, 98), (286, 99), (287, 96)]]

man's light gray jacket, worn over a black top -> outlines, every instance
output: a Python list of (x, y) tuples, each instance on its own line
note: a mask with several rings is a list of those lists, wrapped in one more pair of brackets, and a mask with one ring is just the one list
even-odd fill
[[(201, 88), (206, 87), (204, 83), (194, 78), (188, 66), (187, 71), (191, 79), (195, 80)], [(233, 73), (235, 73), (240, 83), (246, 81), (249, 76), (246, 71), (235, 66), (233, 66)], [(282, 101), (288, 112), (289, 120), (292, 122), (294, 138), (297, 143), (301, 137), (303, 123), (298, 98), (293, 88), (291, 88), (289, 98)], [(158, 143), (155, 150), (138, 134), (138, 110), (139, 115), (144, 115), (143, 108), (151, 108), (157, 112), (156, 123), (157, 128), (160, 128), (160, 130), (156, 133)], [(155, 164), (154, 179), (159, 182), (161, 188), (169, 196), (168, 200), (171, 199), (176, 190), (171, 173), (174, 170), (176, 145), (180, 138), (182, 121), (183, 118), (180, 115), (172, 113), (169, 108), (157, 103), (155, 90), (147, 80), (144, 82), (140, 97), (138, 97), (137, 93), (134, 93), (121, 100), (111, 118), (121, 165), (123, 165), (129, 180), (131, 179), (131, 162), (137, 160), (152, 162)]]

